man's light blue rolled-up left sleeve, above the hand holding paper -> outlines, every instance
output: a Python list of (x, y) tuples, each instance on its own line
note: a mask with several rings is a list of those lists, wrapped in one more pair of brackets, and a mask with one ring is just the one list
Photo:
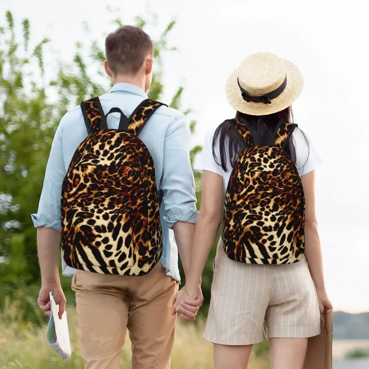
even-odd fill
[(38, 211), (31, 214), (35, 227), (54, 228), (57, 231), (61, 230), (61, 192), (66, 174), (62, 149), (62, 121), (63, 119), (51, 145)]

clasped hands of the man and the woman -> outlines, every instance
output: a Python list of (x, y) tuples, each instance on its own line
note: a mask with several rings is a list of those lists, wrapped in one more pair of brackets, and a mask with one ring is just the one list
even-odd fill
[(197, 291), (190, 292), (186, 286), (179, 290), (179, 292), (172, 299), (171, 314), (180, 313), (183, 320), (193, 322), (196, 319), (197, 312), (203, 304), (204, 297), (201, 291), (201, 286), (197, 287)]

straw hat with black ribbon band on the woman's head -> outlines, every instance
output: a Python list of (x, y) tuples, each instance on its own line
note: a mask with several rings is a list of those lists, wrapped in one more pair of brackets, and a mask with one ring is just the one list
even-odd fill
[(241, 113), (267, 115), (289, 107), (303, 87), (301, 72), (269, 52), (248, 56), (228, 77), (225, 94)]

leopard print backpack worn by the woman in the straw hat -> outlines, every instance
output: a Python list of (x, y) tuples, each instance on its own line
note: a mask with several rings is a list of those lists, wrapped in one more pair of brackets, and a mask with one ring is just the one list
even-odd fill
[(268, 145), (262, 145), (245, 120), (229, 122), (244, 149), (234, 163), (225, 194), (225, 253), (242, 263), (290, 264), (301, 260), (304, 191), (297, 168), (284, 150), (297, 124), (279, 122)]

